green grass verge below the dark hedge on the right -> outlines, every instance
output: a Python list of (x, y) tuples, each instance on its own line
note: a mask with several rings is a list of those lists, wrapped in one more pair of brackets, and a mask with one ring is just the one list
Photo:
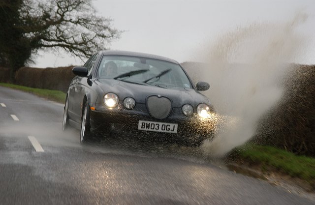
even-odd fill
[(239, 159), (260, 165), (263, 172), (277, 170), (304, 179), (315, 188), (315, 158), (295, 155), (272, 146), (253, 144), (239, 147), (237, 153)]

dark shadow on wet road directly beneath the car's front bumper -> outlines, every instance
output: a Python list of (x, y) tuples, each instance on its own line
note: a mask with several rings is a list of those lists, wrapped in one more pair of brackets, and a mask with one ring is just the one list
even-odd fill
[(205, 156), (198, 146), (184, 146), (181, 143), (157, 138), (158, 136), (156, 135), (152, 138), (114, 132), (107, 134), (96, 133), (81, 145), (84, 149), (93, 152), (105, 151), (140, 155), (142, 157), (171, 157), (197, 163), (211, 163), (214, 161), (211, 157)]

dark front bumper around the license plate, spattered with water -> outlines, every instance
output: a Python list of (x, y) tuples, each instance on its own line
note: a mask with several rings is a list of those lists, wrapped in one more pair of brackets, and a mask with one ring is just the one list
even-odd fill
[[(112, 129), (120, 133), (134, 133), (140, 136), (165, 136), (168, 139), (200, 141), (211, 138), (215, 130), (215, 120), (211, 117), (203, 118), (198, 115), (191, 117), (184, 116), (181, 108), (173, 108), (171, 114), (164, 119), (151, 117), (145, 105), (137, 104), (133, 110), (127, 110), (122, 104), (113, 109), (103, 106), (96, 107), (90, 112), (91, 128), (102, 131)], [(139, 120), (177, 123), (177, 133), (161, 133), (152, 131), (138, 130)]]

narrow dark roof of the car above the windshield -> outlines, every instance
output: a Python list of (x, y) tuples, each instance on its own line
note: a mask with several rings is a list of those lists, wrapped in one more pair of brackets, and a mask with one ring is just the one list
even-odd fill
[(164, 61), (179, 64), (179, 62), (177, 62), (176, 60), (168, 59), (166, 57), (152, 55), (152, 54), (131, 52), (131, 51), (101, 51), (101, 54), (103, 54), (103, 55), (117, 55), (117, 56), (133, 56), (133, 57), (140, 57), (140, 58), (147, 58), (147, 59), (158, 59), (158, 60), (164, 60)]

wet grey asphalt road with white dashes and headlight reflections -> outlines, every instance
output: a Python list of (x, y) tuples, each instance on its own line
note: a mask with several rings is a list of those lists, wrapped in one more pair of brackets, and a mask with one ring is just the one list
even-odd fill
[(198, 149), (128, 136), (80, 145), (62, 117), (62, 104), (0, 87), (0, 205), (315, 204), (220, 169)]

